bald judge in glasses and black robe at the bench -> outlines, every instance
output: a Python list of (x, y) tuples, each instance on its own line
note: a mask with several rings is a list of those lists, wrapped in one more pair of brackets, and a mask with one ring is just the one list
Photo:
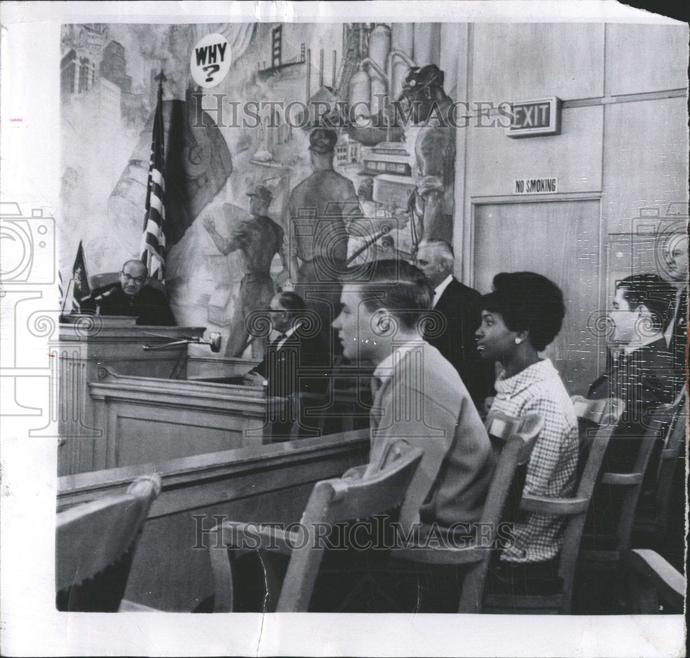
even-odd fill
[(101, 316), (136, 317), (137, 325), (175, 327), (166, 296), (146, 285), (147, 280), (146, 265), (140, 260), (128, 260), (122, 266), (119, 283), (95, 289), (81, 307)]

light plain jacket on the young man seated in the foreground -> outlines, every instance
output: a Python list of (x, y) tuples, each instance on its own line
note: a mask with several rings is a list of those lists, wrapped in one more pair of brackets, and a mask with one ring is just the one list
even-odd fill
[(453, 366), (423, 342), (395, 362), (375, 394), (368, 469), (400, 439), (424, 453), (401, 521), (417, 510), (424, 523), (445, 527), (478, 521), (495, 465), (489, 436)]

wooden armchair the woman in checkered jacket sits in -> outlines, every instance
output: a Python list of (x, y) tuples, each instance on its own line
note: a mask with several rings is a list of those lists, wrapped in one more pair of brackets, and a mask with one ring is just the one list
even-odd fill
[[(569, 615), (573, 601), (573, 580), (582, 530), (592, 492), (600, 472), (604, 453), (615, 423), (624, 405), (621, 400), (585, 400), (573, 398), (575, 414), (580, 423), (580, 455), (578, 458), (578, 486), (569, 498), (522, 496), (520, 510), (565, 519), (562, 545), (558, 556), (558, 581), (553, 593), (485, 594), (485, 612), (518, 612), (520, 614), (557, 613)], [(528, 588), (529, 592), (529, 583)]]

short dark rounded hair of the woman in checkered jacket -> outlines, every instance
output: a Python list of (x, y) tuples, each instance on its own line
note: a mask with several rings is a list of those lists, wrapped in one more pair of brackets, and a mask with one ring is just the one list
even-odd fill
[(542, 351), (563, 324), (561, 289), (534, 272), (502, 272), (493, 278), (493, 291), (482, 297), (482, 310), (500, 313), (511, 331), (529, 331), (529, 342)]

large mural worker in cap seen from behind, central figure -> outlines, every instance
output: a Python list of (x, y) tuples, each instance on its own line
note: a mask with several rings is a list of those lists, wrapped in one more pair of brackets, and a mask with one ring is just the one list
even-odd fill
[(288, 200), (288, 258), (295, 292), (315, 311), (326, 354), (342, 348), (333, 340), (331, 322), (339, 313), (339, 275), (347, 260), (351, 220), (362, 217), (352, 181), (333, 169), (335, 130), (315, 128), (309, 135), (313, 173), (297, 184)]

